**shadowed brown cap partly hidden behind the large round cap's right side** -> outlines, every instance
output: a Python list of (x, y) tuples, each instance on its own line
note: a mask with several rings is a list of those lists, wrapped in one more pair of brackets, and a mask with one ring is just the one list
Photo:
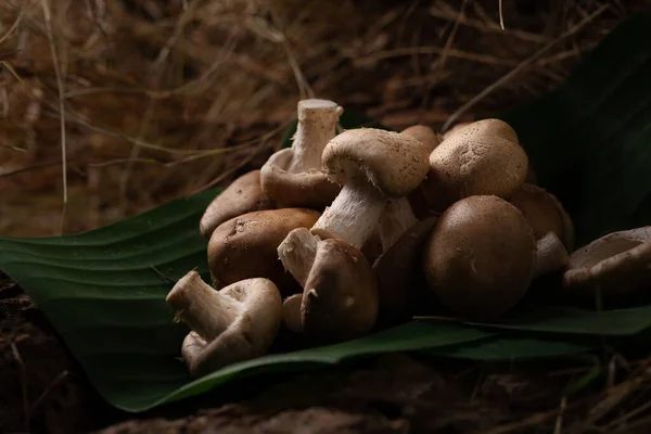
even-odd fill
[(569, 252), (574, 248), (574, 225), (559, 200), (540, 187), (523, 183), (509, 197), (528, 220), (536, 239), (553, 231)]

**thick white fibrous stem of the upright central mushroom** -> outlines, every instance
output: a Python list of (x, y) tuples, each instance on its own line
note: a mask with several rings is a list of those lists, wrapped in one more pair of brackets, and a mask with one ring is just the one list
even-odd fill
[(326, 207), (312, 229), (361, 248), (376, 228), (388, 199), (380, 190), (365, 181), (350, 181)]

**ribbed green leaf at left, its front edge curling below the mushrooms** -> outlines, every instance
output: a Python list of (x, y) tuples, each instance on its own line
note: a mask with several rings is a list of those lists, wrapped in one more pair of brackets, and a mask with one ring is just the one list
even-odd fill
[[(490, 336), (462, 327), (406, 324), (340, 345), (272, 355), (194, 381), (179, 359), (188, 330), (165, 304), (173, 281), (208, 279), (199, 219), (215, 192), (174, 201), (79, 235), (0, 239), (0, 265), (34, 298), (114, 406), (142, 411), (244, 372), (335, 363), (346, 357), (438, 347)], [(157, 270), (157, 271), (156, 271)]]

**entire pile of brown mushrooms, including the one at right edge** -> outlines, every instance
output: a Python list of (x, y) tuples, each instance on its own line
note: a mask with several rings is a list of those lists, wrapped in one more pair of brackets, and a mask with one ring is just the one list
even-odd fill
[(213, 286), (196, 271), (166, 302), (192, 331), (193, 375), (266, 354), (279, 332), (347, 341), (445, 307), (469, 320), (509, 312), (532, 281), (561, 272), (577, 292), (651, 283), (651, 227), (572, 253), (574, 227), (535, 184), (515, 131), (499, 119), (445, 136), (337, 133), (343, 110), (298, 102), (291, 148), (230, 184), (207, 207)]

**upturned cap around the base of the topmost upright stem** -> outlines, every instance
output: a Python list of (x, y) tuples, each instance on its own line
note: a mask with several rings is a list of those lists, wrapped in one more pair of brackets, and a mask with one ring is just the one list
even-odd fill
[(307, 207), (321, 209), (330, 205), (341, 191), (319, 170), (293, 174), (288, 170), (294, 150), (280, 150), (272, 154), (260, 169), (261, 190), (279, 207)]

